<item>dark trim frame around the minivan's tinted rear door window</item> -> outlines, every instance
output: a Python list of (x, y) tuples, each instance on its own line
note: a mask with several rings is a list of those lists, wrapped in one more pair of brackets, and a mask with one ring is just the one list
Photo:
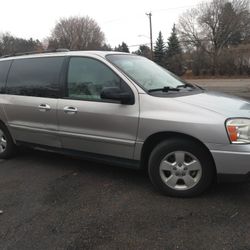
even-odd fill
[(30, 57), (30, 58), (16, 58), (16, 59), (12, 59), (11, 60), (11, 64), (10, 64), (10, 67), (9, 67), (9, 70), (8, 70), (8, 74), (7, 74), (7, 77), (6, 77), (6, 82), (5, 82), (5, 86), (4, 86), (4, 94), (6, 95), (14, 95), (14, 94), (9, 94), (6, 92), (6, 89), (7, 89), (7, 83), (8, 83), (8, 80), (9, 80), (9, 75), (10, 75), (10, 72), (11, 72), (11, 69), (13, 67), (13, 63), (14, 61), (17, 61), (17, 60), (29, 60), (29, 59), (48, 59), (48, 58), (62, 58), (63, 61), (62, 61), (62, 65), (59, 69), (59, 73), (58, 73), (58, 77), (57, 77), (57, 84), (58, 84), (58, 95), (57, 97), (50, 97), (50, 96), (29, 96), (29, 95), (16, 95), (16, 96), (27, 96), (27, 97), (35, 97), (35, 98), (50, 98), (50, 99), (60, 99), (62, 98), (63, 96), (63, 90), (62, 90), (62, 86), (63, 86), (63, 82), (64, 82), (64, 71), (65, 71), (65, 67), (67, 66), (66, 65), (66, 56), (45, 56), (45, 57)]

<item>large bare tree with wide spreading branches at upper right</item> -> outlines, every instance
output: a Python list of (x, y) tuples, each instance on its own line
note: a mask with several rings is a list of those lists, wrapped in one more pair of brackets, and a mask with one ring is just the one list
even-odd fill
[(216, 73), (223, 49), (241, 43), (250, 34), (249, 0), (204, 2), (180, 17), (178, 31), (184, 45), (210, 56)]

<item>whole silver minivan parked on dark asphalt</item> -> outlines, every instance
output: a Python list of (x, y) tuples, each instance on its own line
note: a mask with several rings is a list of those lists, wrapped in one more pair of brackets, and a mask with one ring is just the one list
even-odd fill
[(250, 102), (186, 83), (118, 52), (0, 59), (0, 158), (16, 145), (145, 168), (154, 186), (191, 197), (250, 176)]

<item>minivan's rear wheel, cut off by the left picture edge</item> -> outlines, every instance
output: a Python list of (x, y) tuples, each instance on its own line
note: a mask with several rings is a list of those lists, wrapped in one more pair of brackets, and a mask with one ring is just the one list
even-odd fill
[(0, 159), (8, 159), (13, 156), (15, 144), (8, 129), (0, 124)]

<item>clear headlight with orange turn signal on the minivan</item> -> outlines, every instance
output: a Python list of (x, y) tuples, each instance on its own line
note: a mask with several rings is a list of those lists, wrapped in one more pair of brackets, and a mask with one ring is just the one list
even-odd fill
[(229, 119), (226, 127), (232, 143), (250, 143), (250, 119)]

